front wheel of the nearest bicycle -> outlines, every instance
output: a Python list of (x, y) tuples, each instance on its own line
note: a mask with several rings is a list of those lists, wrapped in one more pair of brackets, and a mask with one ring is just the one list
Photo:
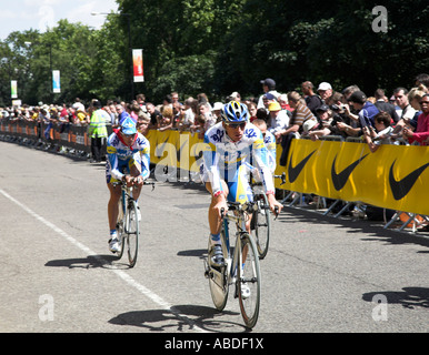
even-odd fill
[(245, 324), (252, 328), (258, 321), (261, 293), (259, 255), (255, 241), (248, 233), (240, 237), (239, 247), (238, 298)]

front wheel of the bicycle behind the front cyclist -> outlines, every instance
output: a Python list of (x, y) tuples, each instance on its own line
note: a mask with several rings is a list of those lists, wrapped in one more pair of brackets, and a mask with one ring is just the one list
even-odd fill
[(270, 242), (271, 220), (270, 206), (265, 193), (255, 196), (255, 202), (258, 203), (258, 211), (253, 212), (255, 224), (255, 242), (257, 243), (259, 257), (263, 258), (268, 252), (268, 244)]

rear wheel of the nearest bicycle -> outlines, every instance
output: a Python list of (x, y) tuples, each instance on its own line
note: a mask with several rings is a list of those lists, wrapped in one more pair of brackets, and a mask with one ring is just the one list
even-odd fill
[[(228, 258), (228, 248), (226, 245), (226, 237), (225, 237), (225, 226), (222, 226), (222, 230), (220, 232), (221, 239), (222, 239), (222, 251), (223, 251), (223, 257), (227, 261)], [(228, 301), (228, 292), (229, 292), (229, 285), (228, 285), (228, 265), (222, 267), (214, 267), (210, 265), (210, 247), (211, 243), (209, 241), (209, 272), (208, 272), (208, 278), (209, 278), (209, 286), (210, 286), (210, 294), (211, 300), (213, 301), (214, 307), (218, 311), (223, 311), (225, 306), (227, 305)]]

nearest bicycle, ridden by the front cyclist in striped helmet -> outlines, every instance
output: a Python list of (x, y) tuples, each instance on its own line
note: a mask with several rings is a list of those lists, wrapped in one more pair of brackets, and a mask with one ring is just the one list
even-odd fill
[[(222, 227), (220, 232), (222, 241), (223, 266), (213, 266), (209, 256), (204, 260), (204, 275), (209, 280), (210, 293), (218, 311), (223, 311), (229, 294), (229, 286), (235, 285), (235, 298), (239, 298), (241, 316), (248, 328), (252, 328), (259, 316), (261, 275), (259, 268), (259, 255), (251, 234), (246, 230), (246, 221), (249, 213), (256, 211), (253, 202), (243, 204), (228, 202), (229, 211), (236, 211), (236, 215), (222, 211)], [(229, 241), (229, 221), (236, 222), (236, 245), (231, 258)]]

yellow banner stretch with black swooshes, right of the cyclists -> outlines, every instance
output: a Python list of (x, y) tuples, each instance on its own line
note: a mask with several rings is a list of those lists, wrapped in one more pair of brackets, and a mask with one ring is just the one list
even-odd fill
[[(281, 155), (278, 146), (277, 156)], [(286, 173), (277, 187), (380, 207), (429, 214), (429, 149), (382, 145), (371, 153), (367, 144), (293, 140)]]

